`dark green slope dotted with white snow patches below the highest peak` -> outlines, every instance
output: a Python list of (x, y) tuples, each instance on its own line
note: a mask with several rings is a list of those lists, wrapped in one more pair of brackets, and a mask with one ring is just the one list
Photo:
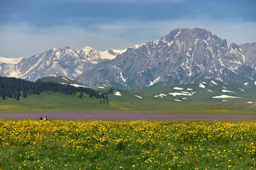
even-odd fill
[(207, 79), (186, 85), (173, 85), (155, 88), (142, 88), (133, 90), (133, 93), (156, 98), (171, 98), (178, 102), (201, 100), (201, 101), (234, 101), (239, 99), (255, 101), (256, 86), (254, 81), (243, 83), (221, 82), (216, 79)]

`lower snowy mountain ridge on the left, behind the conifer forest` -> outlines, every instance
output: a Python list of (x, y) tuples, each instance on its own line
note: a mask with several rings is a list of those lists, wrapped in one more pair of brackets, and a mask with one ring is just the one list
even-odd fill
[(96, 51), (91, 47), (84, 47), (78, 51), (74, 51), (70, 47), (54, 48), (28, 59), (21, 58), (19, 62), (6, 62), (5, 60), (8, 59), (4, 59), (0, 63), (2, 65), (0, 75), (24, 78), (30, 81), (36, 81), (44, 76), (76, 78), (84, 70), (103, 60), (114, 59), (121, 52), (121, 50)]

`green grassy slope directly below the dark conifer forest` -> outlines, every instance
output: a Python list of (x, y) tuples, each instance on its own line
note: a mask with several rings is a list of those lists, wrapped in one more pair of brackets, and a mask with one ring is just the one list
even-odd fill
[[(78, 94), (78, 93), (77, 93)], [(106, 104), (100, 104), (100, 99), (91, 99), (62, 93), (44, 92), (40, 95), (28, 95), (27, 99), (20, 97), (20, 101), (7, 98), (0, 101), (0, 111), (57, 111), (57, 110), (91, 110), (91, 109), (115, 109)]]

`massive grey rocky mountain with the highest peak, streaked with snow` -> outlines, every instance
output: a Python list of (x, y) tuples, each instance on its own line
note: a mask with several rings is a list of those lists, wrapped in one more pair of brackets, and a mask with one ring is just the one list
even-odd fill
[[(77, 80), (127, 88), (185, 84), (208, 78), (256, 79), (253, 59), (226, 40), (200, 29), (176, 29), (157, 41), (128, 48), (110, 61), (85, 71)], [(91, 77), (91, 78), (89, 78)]]

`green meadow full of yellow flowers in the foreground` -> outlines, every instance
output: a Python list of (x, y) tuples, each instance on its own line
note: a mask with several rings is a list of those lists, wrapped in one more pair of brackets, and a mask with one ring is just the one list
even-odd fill
[(1, 170), (256, 169), (256, 122), (3, 121)]

